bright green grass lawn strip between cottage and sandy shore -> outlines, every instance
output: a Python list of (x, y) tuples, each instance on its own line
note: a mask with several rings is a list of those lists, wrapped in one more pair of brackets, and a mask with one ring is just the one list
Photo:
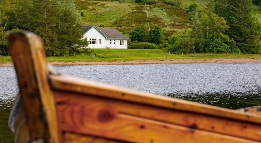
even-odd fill
[[(96, 57), (95, 57), (96, 53)], [(135, 60), (164, 60), (166, 59), (213, 59), (213, 58), (246, 58), (246, 59), (255, 59), (261, 58), (259, 54), (239, 54), (239, 53), (191, 53), (183, 54), (182, 53), (172, 53), (169, 54), (166, 51), (159, 49), (94, 49), (94, 52), (91, 55), (86, 54), (76, 54), (75, 56), (55, 56), (47, 57), (48, 62), (88, 62), (88, 61), (98, 61), (98, 62), (120, 62), (120, 61), (135, 61)], [(0, 63), (12, 62), (10, 56), (5, 56), (0, 58)]]

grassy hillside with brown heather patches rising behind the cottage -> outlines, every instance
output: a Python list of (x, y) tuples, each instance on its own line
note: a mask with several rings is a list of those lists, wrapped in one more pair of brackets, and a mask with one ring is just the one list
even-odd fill
[[(74, 0), (82, 16), (83, 25), (96, 25), (98, 27), (116, 28), (128, 36), (137, 25), (147, 26), (145, 5), (135, 3), (134, 0)], [(167, 36), (176, 32), (182, 33), (192, 27), (187, 12), (189, 5), (196, 2), (198, 10), (203, 10), (206, 0), (182, 0), (180, 7), (162, 3), (147, 5), (149, 24), (157, 24), (163, 27)], [(261, 20), (259, 6), (253, 6), (253, 14)]]

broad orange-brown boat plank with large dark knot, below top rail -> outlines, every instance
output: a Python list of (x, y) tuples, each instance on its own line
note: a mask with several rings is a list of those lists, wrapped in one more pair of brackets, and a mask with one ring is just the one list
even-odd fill
[(261, 126), (204, 114), (54, 91), (63, 131), (129, 142), (257, 142)]

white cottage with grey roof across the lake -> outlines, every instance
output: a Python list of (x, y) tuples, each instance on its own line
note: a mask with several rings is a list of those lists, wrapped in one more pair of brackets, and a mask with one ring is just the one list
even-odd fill
[(89, 41), (88, 48), (128, 48), (128, 37), (116, 29), (97, 28), (95, 25), (82, 26), (84, 38)]

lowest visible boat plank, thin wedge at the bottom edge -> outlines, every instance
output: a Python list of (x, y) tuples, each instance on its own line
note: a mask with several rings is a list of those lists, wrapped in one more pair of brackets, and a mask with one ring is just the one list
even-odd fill
[(124, 143), (122, 141), (109, 140), (94, 136), (83, 136), (73, 133), (64, 134), (65, 143)]

